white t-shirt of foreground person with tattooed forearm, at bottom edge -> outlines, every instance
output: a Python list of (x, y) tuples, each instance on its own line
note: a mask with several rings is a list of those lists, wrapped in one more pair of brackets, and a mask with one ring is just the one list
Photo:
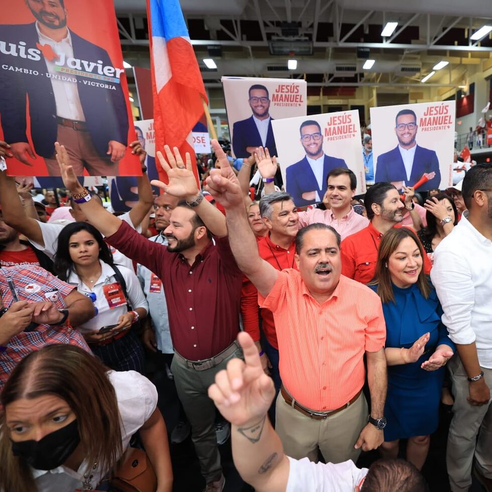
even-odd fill
[(367, 474), (367, 468), (357, 468), (352, 460), (325, 464), (289, 458), (289, 463), (285, 492), (354, 492)]

